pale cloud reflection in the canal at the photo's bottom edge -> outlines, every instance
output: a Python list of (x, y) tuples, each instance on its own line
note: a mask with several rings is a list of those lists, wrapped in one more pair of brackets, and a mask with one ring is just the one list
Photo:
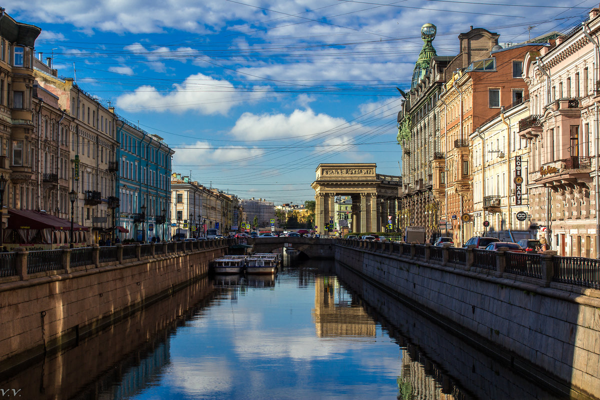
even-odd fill
[(170, 375), (173, 386), (196, 399), (208, 393), (229, 391), (234, 386), (232, 368), (224, 359), (173, 359)]

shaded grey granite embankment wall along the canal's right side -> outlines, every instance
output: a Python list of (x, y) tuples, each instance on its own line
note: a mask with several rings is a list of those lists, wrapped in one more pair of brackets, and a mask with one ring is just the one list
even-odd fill
[(414, 246), (412, 255), (347, 241), (335, 248), (344, 267), (515, 371), (551, 391), (599, 398), (600, 291), (547, 287), (536, 279), (448, 263), (447, 255), (446, 261), (416, 257)]

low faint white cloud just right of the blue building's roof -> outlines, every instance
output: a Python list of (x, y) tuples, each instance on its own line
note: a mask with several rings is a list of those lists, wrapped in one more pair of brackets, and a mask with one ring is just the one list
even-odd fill
[(202, 160), (203, 164), (227, 163), (236, 161), (241, 165), (250, 164), (252, 160), (260, 157), (264, 151), (244, 146), (217, 147), (208, 142), (196, 142), (193, 145), (175, 148), (173, 165), (189, 165), (193, 160)]

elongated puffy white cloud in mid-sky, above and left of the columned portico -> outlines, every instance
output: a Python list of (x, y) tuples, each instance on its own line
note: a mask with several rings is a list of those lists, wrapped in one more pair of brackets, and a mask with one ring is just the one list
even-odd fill
[(237, 138), (247, 140), (284, 139), (296, 136), (316, 136), (331, 133), (346, 126), (343, 118), (315, 114), (313, 110), (295, 110), (290, 115), (244, 113), (230, 131)]

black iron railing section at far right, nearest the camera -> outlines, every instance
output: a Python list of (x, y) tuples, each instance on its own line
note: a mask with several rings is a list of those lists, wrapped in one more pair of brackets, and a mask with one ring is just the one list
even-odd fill
[(600, 289), (600, 260), (583, 257), (552, 257), (553, 281)]

